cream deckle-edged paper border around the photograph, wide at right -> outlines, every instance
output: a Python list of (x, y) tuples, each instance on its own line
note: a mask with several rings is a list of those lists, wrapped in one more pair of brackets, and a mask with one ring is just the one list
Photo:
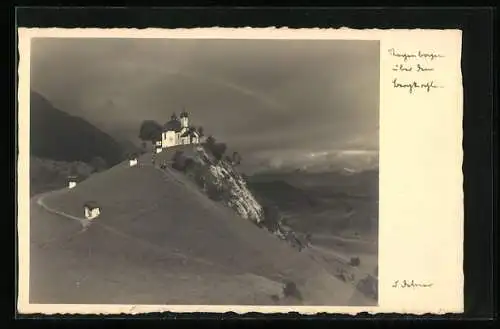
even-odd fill
[[(319, 312), (442, 314), (463, 311), (461, 31), (214, 27), (20, 28), (18, 33), (20, 53), (18, 310), (20, 313), (138, 314), (171, 311), (241, 314), (293, 311), (301, 314)], [(381, 47), (379, 306), (29, 304), (29, 40), (32, 37), (379, 40)], [(437, 73), (445, 88), (423, 96), (409, 96), (392, 88), (389, 81), (393, 59), (387, 54), (389, 48), (401, 48), (404, 51), (425, 48), (445, 53), (446, 59), (442, 61), (444, 64)], [(418, 148), (415, 148), (416, 146)], [(444, 154), (443, 148), (447, 150)], [(418, 156), (415, 156), (415, 153)], [(446, 179), (437, 181), (440, 177)], [(425, 280), (432, 282), (434, 286), (429, 289), (414, 290), (390, 288), (392, 282), (397, 279)]]

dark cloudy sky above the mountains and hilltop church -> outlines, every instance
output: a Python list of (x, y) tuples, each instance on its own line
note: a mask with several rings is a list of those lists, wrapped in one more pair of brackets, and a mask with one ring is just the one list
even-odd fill
[(35, 39), (31, 87), (117, 139), (185, 107), (247, 157), (378, 149), (376, 41)]

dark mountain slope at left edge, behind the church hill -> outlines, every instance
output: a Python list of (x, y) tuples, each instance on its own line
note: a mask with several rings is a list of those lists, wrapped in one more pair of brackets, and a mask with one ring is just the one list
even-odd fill
[(122, 160), (121, 146), (87, 121), (56, 109), (39, 93), (30, 95), (30, 154), (58, 161), (90, 162), (103, 158), (108, 165)]

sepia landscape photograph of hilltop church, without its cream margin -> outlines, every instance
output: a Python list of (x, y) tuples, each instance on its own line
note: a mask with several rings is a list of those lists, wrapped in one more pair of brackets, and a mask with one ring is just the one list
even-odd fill
[(29, 303), (377, 306), (380, 52), (32, 38)]

